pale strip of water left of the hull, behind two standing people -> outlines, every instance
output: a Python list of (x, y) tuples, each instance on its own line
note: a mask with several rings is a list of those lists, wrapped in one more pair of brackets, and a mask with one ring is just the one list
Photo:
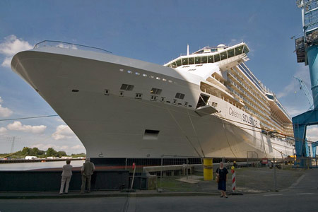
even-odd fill
[[(84, 160), (71, 160), (71, 165), (73, 167), (80, 167), (83, 165)], [(37, 170), (45, 168), (57, 168), (63, 167), (65, 161), (54, 161), (54, 162), (45, 162), (45, 163), (1, 163), (0, 170)]]

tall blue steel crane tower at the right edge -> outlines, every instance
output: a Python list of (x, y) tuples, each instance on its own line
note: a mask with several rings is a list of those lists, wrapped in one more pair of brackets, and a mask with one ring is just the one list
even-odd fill
[(295, 52), (298, 63), (309, 67), (314, 109), (293, 117), (293, 129), (296, 155), (307, 157), (307, 126), (318, 124), (318, 0), (298, 0), (296, 4), (302, 10), (303, 34), (295, 38)]

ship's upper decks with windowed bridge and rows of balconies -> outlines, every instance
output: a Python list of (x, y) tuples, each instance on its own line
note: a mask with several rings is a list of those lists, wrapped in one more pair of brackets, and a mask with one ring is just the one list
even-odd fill
[(235, 107), (257, 117), (261, 129), (293, 136), (290, 114), (245, 64), (248, 52), (249, 48), (243, 42), (232, 47), (204, 47), (191, 55), (178, 57), (165, 66), (200, 75), (200, 70), (208, 70), (214, 65), (213, 73), (206, 78), (211, 84), (201, 83), (202, 91), (231, 102)]

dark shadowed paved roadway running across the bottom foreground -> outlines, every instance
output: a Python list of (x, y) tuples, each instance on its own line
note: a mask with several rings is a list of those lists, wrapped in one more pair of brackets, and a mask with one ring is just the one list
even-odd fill
[[(90, 197), (90, 198), (88, 198)], [(95, 198), (93, 198), (95, 197)], [(0, 211), (312, 211), (318, 207), (318, 169), (306, 170), (280, 192), (220, 198), (218, 192), (136, 191), (0, 193)]]

